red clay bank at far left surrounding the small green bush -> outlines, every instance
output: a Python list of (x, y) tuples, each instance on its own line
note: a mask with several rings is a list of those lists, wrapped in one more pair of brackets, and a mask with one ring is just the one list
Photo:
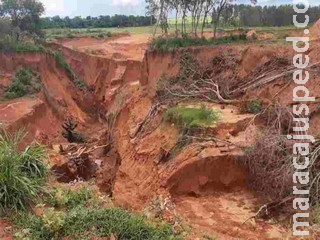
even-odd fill
[(51, 56), (8, 53), (1, 54), (0, 59), (2, 72), (13, 75), (21, 67), (30, 67), (41, 76), (42, 91), (38, 96), (0, 104), (0, 122), (8, 129), (25, 128), (29, 133), (27, 142), (34, 138), (44, 143), (48, 139), (61, 139), (61, 123), (67, 116), (73, 116), (81, 124), (90, 120), (84, 110), (91, 108), (94, 112), (94, 105), (85, 101), (83, 93)]

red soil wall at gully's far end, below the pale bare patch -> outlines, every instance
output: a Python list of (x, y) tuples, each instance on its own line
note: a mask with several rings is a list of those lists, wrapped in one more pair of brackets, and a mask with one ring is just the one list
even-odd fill
[(141, 61), (91, 55), (59, 44), (51, 46), (64, 54), (74, 72), (94, 90), (98, 101), (112, 100), (121, 86), (139, 82), (141, 79)]

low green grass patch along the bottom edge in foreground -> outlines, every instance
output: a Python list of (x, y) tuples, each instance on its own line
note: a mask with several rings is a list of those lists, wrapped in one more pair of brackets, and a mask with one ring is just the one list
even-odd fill
[(119, 240), (177, 239), (170, 225), (154, 225), (143, 217), (118, 208), (77, 207), (67, 212), (47, 209), (41, 217), (20, 214), (15, 217), (15, 224), (20, 229), (15, 236), (20, 239), (91, 239), (112, 234)]

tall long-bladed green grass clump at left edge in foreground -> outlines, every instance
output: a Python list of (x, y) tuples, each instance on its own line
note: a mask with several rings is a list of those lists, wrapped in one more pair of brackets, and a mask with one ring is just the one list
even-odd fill
[(47, 175), (43, 163), (43, 147), (34, 144), (24, 151), (18, 151), (23, 137), (21, 132), (15, 135), (0, 135), (0, 211), (26, 209), (39, 197)]

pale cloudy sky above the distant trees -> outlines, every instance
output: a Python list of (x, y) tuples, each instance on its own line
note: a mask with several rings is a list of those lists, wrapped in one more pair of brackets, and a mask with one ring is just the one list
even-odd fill
[[(46, 16), (99, 16), (99, 15), (144, 15), (145, 0), (40, 0), (46, 8)], [(237, 0), (237, 3), (250, 3)], [(260, 5), (290, 4), (293, 0), (258, 0)], [(319, 5), (319, 0), (309, 0)]]

